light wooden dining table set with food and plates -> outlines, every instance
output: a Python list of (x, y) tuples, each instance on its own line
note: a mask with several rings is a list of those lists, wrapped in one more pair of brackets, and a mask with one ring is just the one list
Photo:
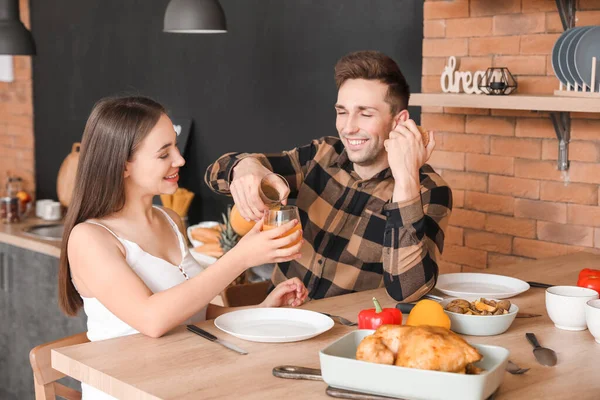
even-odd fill
[[(600, 268), (600, 256), (577, 253), (482, 272), (575, 285), (582, 268)], [(396, 304), (384, 289), (376, 289), (313, 300), (302, 308), (356, 320), (361, 309), (372, 307), (373, 296), (384, 307)], [(464, 336), (474, 344), (505, 347), (510, 351), (510, 360), (530, 368), (523, 375), (506, 373), (496, 399), (600, 399), (600, 344), (590, 332), (556, 328), (546, 313), (545, 289), (532, 287), (510, 300), (520, 312), (542, 316), (517, 318), (501, 335)], [(119, 399), (325, 399), (330, 397), (325, 393), (324, 382), (277, 378), (272, 374), (273, 367), (319, 368), (319, 350), (356, 329), (336, 323), (309, 340), (257, 343), (220, 331), (212, 320), (198, 326), (249, 354), (239, 355), (179, 327), (158, 339), (137, 334), (55, 349), (52, 368)], [(536, 362), (526, 332), (535, 333), (542, 346), (556, 351), (556, 366), (545, 367)]]

